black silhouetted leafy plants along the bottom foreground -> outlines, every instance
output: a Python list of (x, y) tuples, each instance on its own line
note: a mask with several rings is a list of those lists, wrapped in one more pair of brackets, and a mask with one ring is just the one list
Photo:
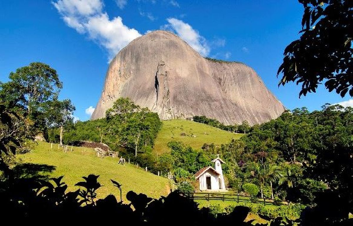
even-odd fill
[[(11, 182), (0, 184), (1, 214), (17, 222), (40, 223), (54, 221), (59, 224), (63, 220), (70, 223), (110, 222), (112, 219), (132, 225), (161, 225), (171, 220), (173, 224), (202, 225), (210, 223), (227, 223), (232, 225), (253, 225), (253, 220), (245, 222), (250, 212), (248, 207), (238, 206), (230, 214), (210, 213), (209, 208), (198, 208), (198, 204), (172, 192), (167, 197), (152, 199), (145, 194), (128, 192), (129, 204), (117, 201), (115, 196), (108, 195), (104, 199), (96, 199), (96, 190), (101, 187), (97, 181), (99, 176), (83, 177), (85, 181), (76, 185), (82, 188), (67, 192), (67, 185), (62, 178), (16, 178)], [(115, 181), (114, 181), (115, 182)], [(118, 183), (118, 182), (115, 182)], [(276, 218), (269, 225), (293, 225), (294, 221)], [(50, 220), (50, 221), (49, 221)], [(264, 225), (264, 224), (256, 224)]]

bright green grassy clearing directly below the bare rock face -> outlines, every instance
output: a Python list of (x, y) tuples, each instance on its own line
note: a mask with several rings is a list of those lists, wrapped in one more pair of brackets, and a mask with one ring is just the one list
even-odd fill
[(200, 149), (204, 143), (220, 145), (232, 139), (239, 139), (241, 136), (242, 134), (227, 132), (190, 120), (167, 120), (163, 121), (162, 129), (157, 135), (154, 151), (157, 153), (168, 151), (167, 143), (171, 140), (182, 141), (195, 149)]

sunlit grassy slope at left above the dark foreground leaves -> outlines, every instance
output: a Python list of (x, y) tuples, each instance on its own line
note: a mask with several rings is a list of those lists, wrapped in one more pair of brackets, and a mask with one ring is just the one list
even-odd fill
[[(106, 197), (109, 194), (120, 196), (119, 190), (113, 187), (110, 179), (122, 184), (122, 197), (126, 199), (126, 193), (133, 190), (136, 193), (144, 193), (150, 197), (160, 197), (167, 195), (169, 182), (166, 178), (156, 176), (136, 166), (130, 164), (118, 164), (118, 158), (104, 157), (98, 158), (92, 149), (84, 147), (73, 147), (67, 153), (58, 150), (58, 144), (53, 144), (51, 150), (49, 143), (38, 142), (35, 150), (24, 155), (18, 155), (22, 163), (35, 163), (54, 166), (55, 170), (48, 173), (50, 177), (64, 175), (63, 180), (67, 183), (68, 189), (73, 191), (79, 187), (74, 186), (79, 181), (83, 181), (82, 176), (89, 174), (100, 175), (98, 182), (103, 187), (97, 190), (98, 197)], [(42, 166), (41, 168), (46, 168)]]

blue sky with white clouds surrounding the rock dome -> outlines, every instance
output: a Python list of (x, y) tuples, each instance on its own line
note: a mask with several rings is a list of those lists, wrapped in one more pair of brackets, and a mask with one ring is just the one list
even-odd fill
[(109, 60), (132, 39), (167, 29), (204, 56), (254, 68), (288, 109), (353, 105), (323, 87), (301, 99), (295, 84), (277, 87), (283, 50), (298, 38), (302, 14), (295, 0), (0, 1), (0, 81), (30, 62), (47, 63), (64, 83), (60, 98), (70, 98), (84, 121), (100, 98)]

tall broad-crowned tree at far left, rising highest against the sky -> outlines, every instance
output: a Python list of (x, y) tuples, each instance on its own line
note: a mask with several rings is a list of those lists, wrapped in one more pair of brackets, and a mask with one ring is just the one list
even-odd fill
[(34, 128), (42, 127), (49, 102), (57, 99), (62, 88), (56, 70), (34, 62), (11, 72), (9, 79), (0, 83), (1, 99), (5, 104), (16, 102), (27, 111), (27, 118), (34, 121)]

